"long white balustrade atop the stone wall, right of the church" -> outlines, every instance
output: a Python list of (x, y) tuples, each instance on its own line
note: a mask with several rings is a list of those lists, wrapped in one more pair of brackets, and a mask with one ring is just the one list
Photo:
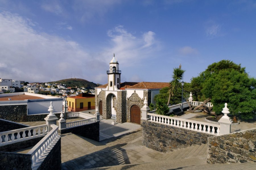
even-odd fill
[(220, 125), (210, 124), (205, 122), (198, 122), (194, 120), (187, 120), (181, 118), (175, 118), (170, 116), (163, 116), (159, 114), (152, 114), (150, 115), (150, 120), (152, 122), (166, 124), (169, 126), (175, 126), (178, 128), (189, 129), (193, 131), (200, 131), (202, 133), (211, 133), (213, 135), (219, 135), (220, 133)]

